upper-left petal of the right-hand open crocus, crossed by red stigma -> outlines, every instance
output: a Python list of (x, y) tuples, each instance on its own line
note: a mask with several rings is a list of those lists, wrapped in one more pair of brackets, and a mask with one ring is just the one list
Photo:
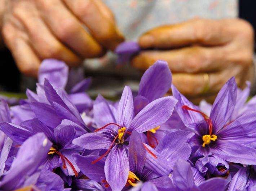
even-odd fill
[(183, 105), (187, 105), (190, 108), (195, 110), (199, 110), (199, 107), (195, 106), (189, 100), (187, 100), (186, 97), (182, 95), (173, 85), (172, 85), (172, 94), (178, 100), (178, 103), (175, 108), (177, 113), (180, 115), (180, 118), (185, 124), (185, 126), (187, 126), (188, 124), (196, 123), (203, 120), (203, 117), (201, 114), (197, 112), (189, 111), (186, 109), (182, 109)]

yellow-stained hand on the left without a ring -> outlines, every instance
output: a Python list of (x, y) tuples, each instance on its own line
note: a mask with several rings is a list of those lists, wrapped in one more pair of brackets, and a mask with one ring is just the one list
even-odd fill
[(75, 66), (124, 40), (100, 0), (0, 0), (0, 5), (3, 2), (4, 42), (19, 70), (30, 76), (37, 76), (45, 58)]

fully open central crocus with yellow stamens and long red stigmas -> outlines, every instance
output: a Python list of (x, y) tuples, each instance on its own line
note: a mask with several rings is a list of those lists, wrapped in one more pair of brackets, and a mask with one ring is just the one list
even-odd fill
[[(133, 131), (146, 132), (162, 125), (172, 114), (176, 104), (172, 96), (162, 97), (152, 101), (134, 117), (134, 105), (132, 91), (125, 86), (119, 101), (116, 115), (116, 128), (97, 129), (95, 133), (86, 133), (73, 140), (73, 143), (85, 149), (104, 149), (109, 147), (103, 156), (107, 155), (105, 163), (106, 181), (112, 190), (120, 190), (124, 187), (129, 174), (129, 163), (126, 153), (128, 137)], [(114, 123), (113, 123), (114, 122)], [(119, 128), (119, 129), (118, 129)], [(112, 148), (113, 147), (113, 148)], [(97, 162), (98, 160), (94, 161)]]

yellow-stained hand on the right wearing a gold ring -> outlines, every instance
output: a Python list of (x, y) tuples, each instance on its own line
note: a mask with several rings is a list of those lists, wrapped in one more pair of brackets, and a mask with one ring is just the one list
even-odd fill
[[(160, 26), (139, 38), (145, 49), (132, 60), (132, 65), (145, 70), (156, 60), (165, 60), (173, 73), (173, 84), (191, 97), (214, 97), (231, 76), (238, 85), (252, 80), (253, 29), (241, 19), (192, 19), (184, 23)], [(203, 95), (205, 97), (206, 95)]]

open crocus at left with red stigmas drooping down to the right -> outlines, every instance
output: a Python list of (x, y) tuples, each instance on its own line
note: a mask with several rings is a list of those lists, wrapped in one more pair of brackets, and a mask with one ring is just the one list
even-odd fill
[(63, 120), (59, 126), (52, 129), (37, 118), (31, 121), (31, 127), (18, 126), (12, 123), (1, 123), (0, 129), (17, 144), (23, 144), (27, 138), (38, 132), (44, 132), (53, 146), (48, 151), (44, 161), (44, 168), (52, 170), (61, 167), (66, 175), (78, 175), (79, 168), (76, 166), (72, 154), (78, 153), (80, 149), (72, 145), (75, 137), (74, 124), (69, 120)]

